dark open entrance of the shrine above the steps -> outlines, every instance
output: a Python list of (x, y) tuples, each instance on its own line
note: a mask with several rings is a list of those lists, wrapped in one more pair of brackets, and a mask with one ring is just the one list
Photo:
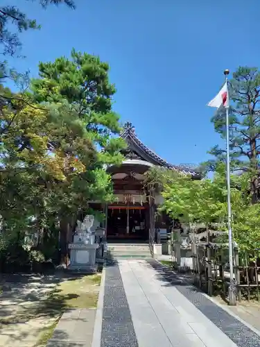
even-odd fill
[(107, 208), (107, 239), (136, 242), (148, 241), (148, 206), (116, 206)]

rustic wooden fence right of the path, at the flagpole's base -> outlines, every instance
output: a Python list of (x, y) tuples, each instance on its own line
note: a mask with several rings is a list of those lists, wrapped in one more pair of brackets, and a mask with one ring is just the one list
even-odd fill
[[(209, 296), (227, 298), (230, 282), (227, 232), (212, 228), (191, 228), (194, 283)], [(237, 300), (259, 301), (259, 250), (234, 249), (234, 279)]]

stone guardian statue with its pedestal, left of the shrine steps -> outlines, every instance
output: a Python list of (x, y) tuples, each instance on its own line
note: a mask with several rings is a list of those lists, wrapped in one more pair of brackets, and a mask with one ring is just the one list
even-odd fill
[(68, 270), (93, 273), (98, 266), (96, 264), (95, 235), (90, 231), (94, 223), (94, 216), (87, 215), (83, 222), (77, 221), (76, 234), (73, 243), (69, 244), (71, 250)]

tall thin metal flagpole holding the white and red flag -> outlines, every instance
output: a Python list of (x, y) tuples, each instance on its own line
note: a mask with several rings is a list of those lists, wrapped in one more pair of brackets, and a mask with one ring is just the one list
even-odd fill
[[(229, 70), (224, 71), (225, 82), (227, 83), (227, 75)], [(227, 142), (227, 228), (228, 228), (228, 250), (229, 250), (229, 273), (230, 284), (228, 289), (229, 305), (236, 305), (236, 283), (234, 282), (233, 267), (233, 241), (232, 241), (232, 210), (230, 201), (230, 155), (229, 155), (229, 104), (226, 109), (226, 142)]]

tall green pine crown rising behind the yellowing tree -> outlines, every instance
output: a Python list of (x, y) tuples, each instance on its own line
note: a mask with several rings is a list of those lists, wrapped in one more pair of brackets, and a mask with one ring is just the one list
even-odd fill
[(109, 65), (96, 56), (73, 50), (71, 60), (62, 57), (41, 62), (39, 67), (40, 78), (31, 84), (33, 100), (42, 105), (67, 105), (85, 123), (90, 139), (100, 149), (102, 165), (119, 163), (125, 142), (114, 137), (121, 128), (119, 116), (112, 111), (116, 89), (109, 82)]

